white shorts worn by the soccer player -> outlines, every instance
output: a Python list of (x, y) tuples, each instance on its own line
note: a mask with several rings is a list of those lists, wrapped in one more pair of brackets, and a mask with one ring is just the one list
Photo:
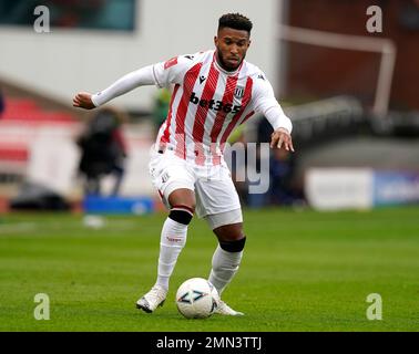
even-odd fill
[[(175, 156), (173, 150), (166, 149), (160, 154), (152, 149), (149, 168), (152, 183), (167, 208), (171, 192), (186, 188), (195, 192), (195, 210), (200, 218), (235, 210), (232, 214), (234, 221), (243, 221), (239, 198), (223, 159), (221, 165), (198, 166), (194, 162)], [(235, 223), (233, 220), (228, 222), (225, 215), (223, 220), (226, 223)], [(213, 222), (208, 222), (213, 226)]]

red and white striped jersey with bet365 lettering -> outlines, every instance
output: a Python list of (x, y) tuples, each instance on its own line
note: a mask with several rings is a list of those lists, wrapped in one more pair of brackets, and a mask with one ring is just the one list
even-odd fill
[[(233, 129), (254, 113), (279, 107), (283, 116), (278, 122), (282, 118), (289, 122), (257, 66), (243, 61), (235, 72), (227, 72), (217, 64), (215, 55), (214, 50), (180, 55), (152, 66), (159, 87), (174, 85), (156, 145), (173, 149), (178, 157), (193, 159), (197, 165), (219, 164)], [(279, 126), (290, 131), (288, 122)]]

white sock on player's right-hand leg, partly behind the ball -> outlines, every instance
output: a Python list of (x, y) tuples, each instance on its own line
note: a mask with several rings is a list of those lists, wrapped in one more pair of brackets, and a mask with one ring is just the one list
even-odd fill
[(225, 287), (232, 281), (241, 264), (243, 251), (227, 252), (217, 246), (213, 256), (213, 269), (209, 273), (209, 282), (218, 291), (223, 292)]

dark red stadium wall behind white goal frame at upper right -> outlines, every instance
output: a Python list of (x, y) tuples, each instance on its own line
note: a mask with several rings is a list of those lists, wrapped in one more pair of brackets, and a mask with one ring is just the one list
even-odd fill
[[(292, 0), (288, 4), (289, 25), (394, 40), (397, 60), (390, 107), (419, 110), (419, 1)], [(366, 11), (372, 4), (382, 9), (382, 33), (369, 33), (366, 29)], [(413, 11), (409, 11), (409, 6)], [(417, 29), (402, 24), (407, 13), (418, 15)], [(372, 102), (380, 54), (288, 43), (286, 56), (287, 96), (352, 93)]]

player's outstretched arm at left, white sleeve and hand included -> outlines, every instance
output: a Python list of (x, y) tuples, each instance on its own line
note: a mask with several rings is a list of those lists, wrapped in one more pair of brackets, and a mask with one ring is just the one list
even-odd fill
[(172, 83), (178, 83), (182, 73), (191, 63), (188, 56), (175, 56), (166, 62), (139, 69), (124, 75), (96, 94), (80, 92), (73, 98), (73, 106), (92, 110), (140, 86), (156, 85), (157, 87), (165, 87)]

